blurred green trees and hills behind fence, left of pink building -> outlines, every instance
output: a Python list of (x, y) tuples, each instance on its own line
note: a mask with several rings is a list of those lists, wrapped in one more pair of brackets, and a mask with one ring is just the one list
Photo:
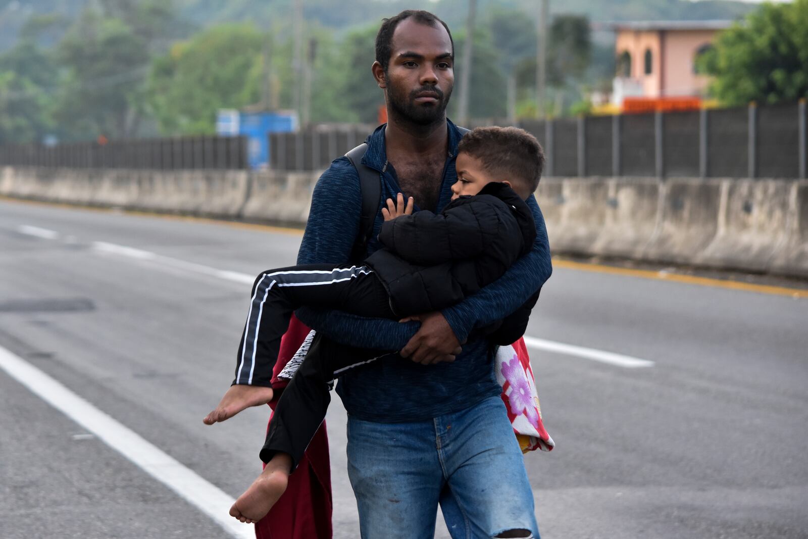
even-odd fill
[[(802, 11), (805, 2), (796, 2)], [(113, 139), (153, 135), (158, 130), (169, 135), (213, 133), (218, 109), (267, 105), (263, 103), (267, 45), (268, 104), (291, 109), (305, 93), (292, 65), (293, 4), (294, 0), (0, 0), (0, 141), (41, 141), (48, 134), (60, 140), (87, 140), (100, 134)], [(310, 49), (304, 67), (311, 73), (313, 121), (376, 121), (384, 101), (370, 71), (373, 44), (381, 19), (402, 9), (427, 9), (456, 29), (456, 65), (461, 65), (468, 0), (305, 0), (303, 4), (304, 39)], [(559, 9), (569, 15), (559, 14)], [(613, 74), (611, 33), (591, 35), (583, 15), (601, 21), (732, 19), (753, 9), (743, 2), (725, 1), (554, 2), (545, 106), (558, 113), (563, 103), (580, 102), (584, 87), (603, 86)], [(509, 78), (516, 87), (516, 103), (511, 104), (520, 116), (532, 116), (537, 10), (533, 0), (478, 0), (471, 116), (505, 116)], [(797, 31), (781, 33), (788, 33), (792, 47), (802, 39)], [(769, 46), (781, 46), (773, 39)], [(804, 44), (799, 46), (806, 50)], [(714, 64), (722, 65), (722, 57), (715, 58)], [(775, 86), (793, 86), (793, 76), (788, 75), (793, 71), (775, 65), (769, 72)], [(456, 106), (453, 99), (450, 116)]]

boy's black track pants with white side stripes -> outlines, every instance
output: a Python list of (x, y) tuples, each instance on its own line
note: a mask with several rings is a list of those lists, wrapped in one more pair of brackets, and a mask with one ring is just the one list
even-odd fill
[[(234, 384), (271, 386), (280, 339), (292, 312), (303, 305), (373, 318), (398, 318), (390, 310), (384, 285), (366, 266), (313, 264), (269, 270), (255, 279), (251, 298)], [(348, 347), (315, 335), (305, 360), (281, 394), (261, 459), (267, 462), (281, 451), (291, 455), (297, 467), (326, 417), (330, 381), (340, 371), (386, 353), (389, 351)]]

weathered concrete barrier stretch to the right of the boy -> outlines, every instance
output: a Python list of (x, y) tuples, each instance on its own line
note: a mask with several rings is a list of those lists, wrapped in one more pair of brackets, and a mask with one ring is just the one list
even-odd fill
[(808, 277), (808, 181), (549, 178), (554, 253)]

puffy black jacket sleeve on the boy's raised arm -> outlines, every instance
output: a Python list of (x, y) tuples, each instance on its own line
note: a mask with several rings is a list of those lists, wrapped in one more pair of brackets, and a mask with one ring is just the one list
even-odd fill
[(385, 221), (379, 241), (402, 259), (420, 266), (472, 259), (503, 232), (500, 213), (508, 210), (499, 208), (497, 202), (493, 196), (479, 196), (437, 215), (428, 210), (402, 215)]

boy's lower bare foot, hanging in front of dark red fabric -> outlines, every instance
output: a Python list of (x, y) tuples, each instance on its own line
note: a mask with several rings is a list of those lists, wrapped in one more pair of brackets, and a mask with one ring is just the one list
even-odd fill
[(230, 507), (230, 516), (246, 524), (253, 524), (267, 516), (280, 495), (286, 491), (291, 467), (292, 459), (288, 455), (278, 453), (272, 457), (261, 475)]

